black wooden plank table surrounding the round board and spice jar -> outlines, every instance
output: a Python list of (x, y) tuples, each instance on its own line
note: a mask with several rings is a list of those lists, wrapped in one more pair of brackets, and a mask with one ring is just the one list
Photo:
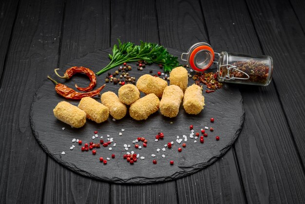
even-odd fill
[[(1, 0), (0, 203), (305, 203), (303, 0)], [(122, 41), (270, 55), (267, 87), (240, 86), (245, 123), (217, 162), (150, 185), (80, 176), (42, 150), (33, 96), (55, 67)]]

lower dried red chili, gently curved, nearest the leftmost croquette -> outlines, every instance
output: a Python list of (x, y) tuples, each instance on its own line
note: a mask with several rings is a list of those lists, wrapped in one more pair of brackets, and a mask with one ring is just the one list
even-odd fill
[(54, 79), (52, 79), (49, 75), (47, 76), (49, 80), (55, 83), (55, 90), (60, 95), (65, 97), (66, 99), (73, 99), (73, 100), (79, 100), (84, 97), (94, 97), (99, 94), (99, 92), (105, 87), (105, 84), (99, 87), (98, 89), (86, 93), (79, 93), (73, 90), (72, 88), (69, 88), (68, 86), (56, 82)]

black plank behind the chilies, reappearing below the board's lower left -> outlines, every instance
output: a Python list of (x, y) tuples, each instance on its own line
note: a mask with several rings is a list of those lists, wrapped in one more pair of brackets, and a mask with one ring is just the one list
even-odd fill
[[(109, 12), (109, 1), (67, 0), (59, 67), (89, 52), (109, 47)], [(110, 184), (80, 176), (50, 157), (44, 187), (44, 203), (109, 201)]]

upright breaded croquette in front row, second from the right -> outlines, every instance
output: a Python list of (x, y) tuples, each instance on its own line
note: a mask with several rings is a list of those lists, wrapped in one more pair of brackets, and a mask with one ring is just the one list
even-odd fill
[(167, 86), (163, 91), (160, 101), (160, 112), (166, 117), (176, 117), (179, 112), (180, 103), (183, 99), (183, 91), (177, 85)]

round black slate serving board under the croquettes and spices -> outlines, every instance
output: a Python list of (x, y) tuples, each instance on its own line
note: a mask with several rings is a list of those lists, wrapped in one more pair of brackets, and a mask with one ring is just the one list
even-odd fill
[[(180, 56), (182, 53), (170, 48), (168, 51), (174, 56)], [(84, 66), (96, 73), (109, 63), (108, 53), (111, 53), (110, 48), (89, 53), (64, 67), (60, 67), (61, 69), (58, 72), (63, 75), (64, 71), (71, 66)], [(178, 60), (180, 61), (180, 59)], [(180, 63), (183, 64), (182, 61)], [(158, 71), (162, 72), (162, 69), (154, 63), (147, 65), (143, 71), (137, 70), (135, 63), (130, 64), (133, 69), (129, 71), (129, 74), (136, 79), (143, 74), (149, 74), (150, 70), (153, 70), (152, 74), (157, 74)], [(113, 73), (116, 70), (117, 68), (114, 68), (111, 72)], [(188, 71), (190, 72), (190, 69)], [(194, 74), (194, 72), (190, 73)], [(105, 83), (106, 75), (107, 72), (97, 76), (95, 88)], [(69, 87), (74, 87), (75, 83), (80, 87), (86, 87), (89, 84), (88, 78), (81, 74), (73, 76), (70, 80), (62, 80), (54, 73), (50, 73), (50, 76), (57, 82), (64, 83)], [(161, 77), (163, 78), (164, 75)], [(192, 83), (194, 81), (190, 78), (189, 85)], [(97, 124), (87, 119), (83, 127), (72, 128), (70, 125), (58, 121), (53, 115), (53, 109), (60, 101), (71, 102), (76, 106), (78, 101), (64, 99), (56, 93), (54, 87), (53, 82), (46, 80), (37, 91), (32, 103), (31, 126), (38, 143), (44, 151), (63, 166), (81, 175), (107, 182), (157, 183), (181, 178), (199, 171), (227, 152), (231, 144), (237, 139), (244, 121), (244, 109), (239, 90), (236, 86), (224, 84), (222, 89), (209, 94), (205, 92), (206, 86), (203, 86), (206, 105), (198, 115), (186, 114), (181, 104), (178, 116), (172, 119), (162, 116), (158, 111), (147, 120), (135, 121), (127, 113), (121, 120), (113, 121), (110, 116), (108, 121)], [(107, 83), (101, 94), (106, 91), (114, 91), (117, 94), (120, 87), (119, 84)], [(141, 93), (141, 97), (143, 96), (144, 94)], [(95, 97), (95, 99), (100, 102), (100, 98)], [(210, 122), (210, 118), (214, 118), (215, 122)], [(213, 127), (214, 131), (206, 130), (208, 137), (204, 138), (204, 143), (200, 143), (200, 138), (196, 140), (190, 138), (191, 124), (194, 127), (194, 133), (200, 133), (200, 129), (205, 128), (205, 126)], [(93, 140), (94, 131), (98, 131), (98, 138)], [(122, 136), (119, 136), (120, 132)], [(164, 133), (164, 139), (155, 142), (155, 135), (158, 132)], [(112, 143), (108, 147), (95, 148), (96, 155), (93, 155), (90, 150), (88, 152), (80, 150), (84, 143), (92, 141), (99, 143), (101, 136), (103, 136), (104, 141), (107, 141), (107, 135), (110, 135), (109, 138), (116, 141), (116, 146), (113, 146), (114, 143)], [(187, 136), (187, 142), (184, 142), (183, 135)], [(215, 140), (217, 135), (220, 137), (219, 141)], [(182, 147), (182, 143), (178, 144), (176, 142), (177, 136), (179, 136), (179, 139), (183, 139), (182, 143), (187, 144), (185, 148)], [(142, 148), (136, 149), (133, 141), (137, 137), (145, 137), (148, 140), (147, 147), (143, 147), (143, 143), (139, 142), (138, 144)], [(74, 138), (82, 140), (82, 145), (73, 143)], [(171, 149), (164, 146), (164, 144), (172, 141)], [(194, 141), (197, 141), (197, 143), (194, 143)], [(131, 145), (128, 152), (134, 151), (145, 159), (141, 160), (139, 157), (136, 163), (127, 163), (123, 159), (123, 155), (127, 152), (124, 144)], [(72, 145), (75, 145), (75, 148), (70, 150)], [(111, 151), (109, 147), (112, 147)], [(178, 152), (178, 147), (182, 147), (182, 152)], [(160, 149), (159, 152), (157, 152), (158, 148)], [(162, 148), (165, 148), (166, 151), (163, 151)], [(65, 155), (61, 154), (63, 151)], [(111, 157), (112, 154), (115, 154), (114, 159)], [(152, 157), (152, 154), (155, 157)], [(165, 158), (162, 157), (163, 154)], [(104, 159), (108, 157), (110, 160), (105, 165), (99, 162), (99, 157)], [(157, 164), (153, 164), (152, 160), (156, 160)], [(174, 165), (170, 165), (171, 160), (174, 161)]]

